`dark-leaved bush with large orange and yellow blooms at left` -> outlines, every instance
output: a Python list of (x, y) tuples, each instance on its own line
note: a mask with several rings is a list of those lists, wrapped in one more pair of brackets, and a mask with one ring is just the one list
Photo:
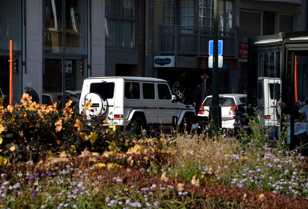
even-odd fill
[[(13, 161), (36, 162), (48, 157), (50, 153), (62, 151), (70, 155), (80, 154), (84, 149), (102, 153), (109, 151), (108, 147), (114, 141), (117, 146), (112, 151), (124, 147), (126, 137), (120, 130), (103, 128), (100, 117), (82, 119), (70, 107), (71, 100), (60, 111), (57, 103), (45, 106), (32, 103), (31, 99), (29, 94), (24, 93), (20, 105), (0, 106), (2, 157)], [(91, 104), (84, 108), (89, 106)]]

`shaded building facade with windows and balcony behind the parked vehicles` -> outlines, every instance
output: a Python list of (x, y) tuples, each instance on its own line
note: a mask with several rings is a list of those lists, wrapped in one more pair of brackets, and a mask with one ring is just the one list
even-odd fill
[[(33, 82), (48, 93), (80, 91), (94, 76), (169, 81), (184, 103), (210, 95), (214, 0), (0, 0), (0, 88), (9, 94), (9, 41), (16, 71), (13, 102)], [(307, 30), (305, 0), (219, 0), (223, 40), (219, 93), (246, 93), (245, 38)], [(201, 75), (208, 75), (205, 88)]]

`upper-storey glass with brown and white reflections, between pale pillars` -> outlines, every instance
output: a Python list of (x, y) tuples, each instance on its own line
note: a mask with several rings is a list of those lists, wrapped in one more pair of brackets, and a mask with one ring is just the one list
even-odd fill
[[(65, 29), (65, 34), (63, 34)], [(46, 0), (45, 49), (46, 52), (71, 54), (87, 53), (87, 2), (84, 0)]]

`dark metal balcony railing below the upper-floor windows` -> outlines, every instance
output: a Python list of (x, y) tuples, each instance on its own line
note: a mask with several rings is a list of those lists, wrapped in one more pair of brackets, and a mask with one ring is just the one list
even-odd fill
[[(208, 56), (213, 30), (158, 28), (158, 54), (173, 56)], [(219, 31), (223, 40), (223, 56), (235, 57), (236, 32)]]

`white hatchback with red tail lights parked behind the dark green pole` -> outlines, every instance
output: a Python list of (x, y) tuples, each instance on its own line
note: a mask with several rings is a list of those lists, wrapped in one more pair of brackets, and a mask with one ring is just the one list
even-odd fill
[[(218, 104), (221, 107), (221, 127), (225, 129), (234, 129), (234, 109), (243, 109), (247, 107), (246, 94), (219, 94)], [(200, 105), (198, 116), (208, 116), (210, 106), (212, 105), (212, 95), (207, 96)], [(209, 117), (211, 119), (211, 117)]]

